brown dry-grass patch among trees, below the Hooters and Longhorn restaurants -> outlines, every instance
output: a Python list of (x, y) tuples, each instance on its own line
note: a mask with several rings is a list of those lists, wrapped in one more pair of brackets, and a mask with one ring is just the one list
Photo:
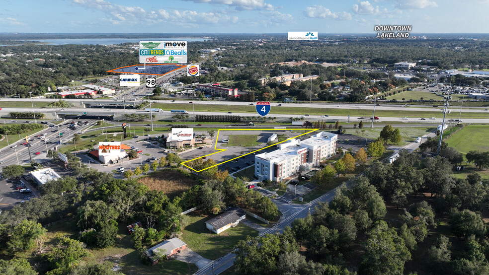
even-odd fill
[(170, 200), (199, 184), (198, 181), (185, 176), (180, 169), (171, 168), (140, 177), (138, 181), (151, 190), (163, 191)]

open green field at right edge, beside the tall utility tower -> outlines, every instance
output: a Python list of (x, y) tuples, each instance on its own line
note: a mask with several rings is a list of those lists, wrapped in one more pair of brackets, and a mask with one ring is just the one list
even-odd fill
[(471, 150), (489, 151), (488, 137), (489, 125), (469, 125), (445, 141), (465, 156)]

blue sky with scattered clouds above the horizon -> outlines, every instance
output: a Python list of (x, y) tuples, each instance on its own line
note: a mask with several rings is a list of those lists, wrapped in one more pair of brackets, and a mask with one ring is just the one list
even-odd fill
[(0, 32), (488, 33), (489, 0), (1, 0)]

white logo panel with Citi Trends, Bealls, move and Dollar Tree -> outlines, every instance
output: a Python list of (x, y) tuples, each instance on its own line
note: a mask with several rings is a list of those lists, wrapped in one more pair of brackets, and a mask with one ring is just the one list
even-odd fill
[(187, 41), (139, 41), (141, 64), (185, 64), (187, 63)]

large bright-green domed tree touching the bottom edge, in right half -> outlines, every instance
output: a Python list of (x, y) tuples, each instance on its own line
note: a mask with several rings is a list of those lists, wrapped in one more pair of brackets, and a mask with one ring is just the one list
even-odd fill
[(368, 232), (361, 273), (403, 274), (404, 264), (411, 259), (404, 240), (385, 221), (379, 221)]

